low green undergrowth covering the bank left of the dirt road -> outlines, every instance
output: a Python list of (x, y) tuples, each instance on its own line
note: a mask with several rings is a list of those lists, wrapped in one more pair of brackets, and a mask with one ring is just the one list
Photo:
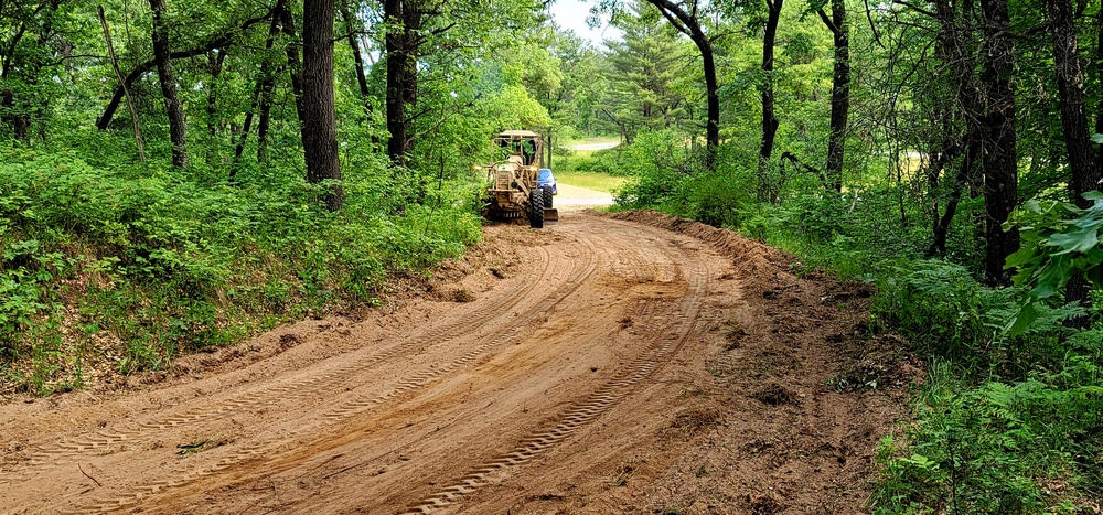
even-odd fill
[[(103, 168), (73, 151), (0, 148), (0, 394), (81, 387), (90, 364), (129, 374), (278, 323), (378, 302), (480, 236), (452, 191), (388, 195), (351, 172), (331, 214), (297, 176), (235, 185), (192, 172)], [(441, 185), (447, 190), (446, 183)]]

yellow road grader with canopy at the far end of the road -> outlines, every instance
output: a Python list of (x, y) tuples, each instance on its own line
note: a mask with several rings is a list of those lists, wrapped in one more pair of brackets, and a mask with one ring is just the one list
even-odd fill
[[(483, 199), (483, 216), (492, 219), (528, 217), (528, 225), (543, 228), (546, 222), (558, 222), (559, 211), (552, 207), (555, 192), (539, 186), (544, 164), (544, 139), (528, 130), (506, 130), (493, 142), (505, 155), (503, 161), (486, 165), (490, 187)], [(473, 170), (482, 169), (480, 165)], [(547, 170), (547, 169), (544, 169)]]

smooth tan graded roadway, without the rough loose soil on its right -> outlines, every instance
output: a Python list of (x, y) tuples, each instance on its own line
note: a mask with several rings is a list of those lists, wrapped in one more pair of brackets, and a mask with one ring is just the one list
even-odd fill
[(0, 512), (504, 513), (649, 453), (683, 403), (658, 377), (700, 352), (716, 278), (738, 297), (729, 260), (588, 215), (490, 232), (516, 258), (459, 282), (471, 302), (303, 322), (236, 369), (0, 408)]

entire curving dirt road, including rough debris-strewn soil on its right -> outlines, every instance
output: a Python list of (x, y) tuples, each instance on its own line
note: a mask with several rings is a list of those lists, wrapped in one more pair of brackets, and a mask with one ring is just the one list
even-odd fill
[(0, 407), (0, 513), (860, 513), (907, 361), (831, 387), (864, 296), (788, 269), (664, 217), (490, 227), (358, 321)]

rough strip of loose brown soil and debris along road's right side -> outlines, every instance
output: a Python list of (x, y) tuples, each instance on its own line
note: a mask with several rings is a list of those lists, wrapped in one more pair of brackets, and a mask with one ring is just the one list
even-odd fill
[[(879, 439), (923, 380), (903, 339), (870, 335), (872, 288), (793, 269), (736, 233), (655, 212), (617, 219), (692, 235), (731, 258), (741, 303), (721, 301), (703, 356), (724, 423), (709, 428), (636, 507), (677, 513), (866, 513)], [(729, 303), (730, 302), (730, 303)], [(698, 471), (715, 471), (704, 474)]]

